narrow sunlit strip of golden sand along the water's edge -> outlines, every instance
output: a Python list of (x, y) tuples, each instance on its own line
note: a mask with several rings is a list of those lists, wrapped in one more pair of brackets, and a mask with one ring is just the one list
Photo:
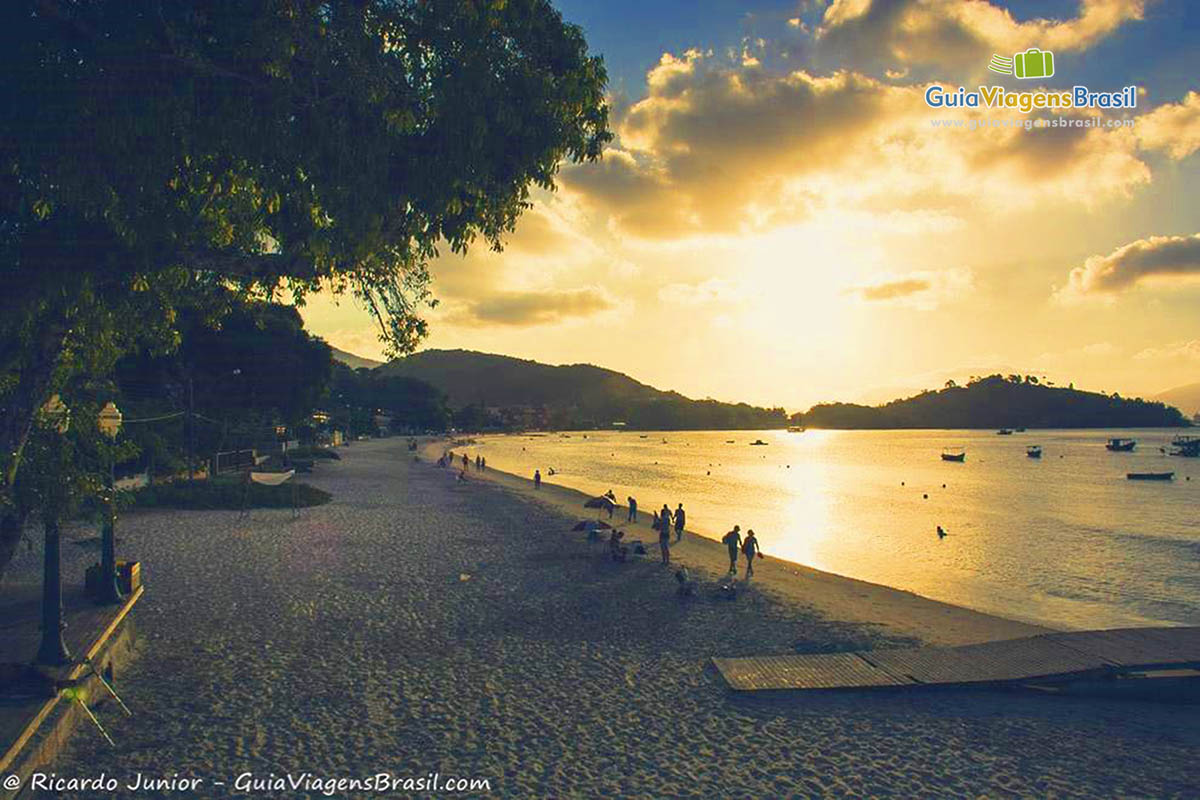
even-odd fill
[[(424, 465), (438, 469), (437, 459), (442, 450), (446, 449), (456, 447), (448, 439), (433, 439), (421, 445), (418, 452)], [(458, 446), (458, 453), (464, 449), (469, 451), (469, 446)], [(446, 471), (449, 474), (449, 468)], [(552, 483), (546, 477), (542, 477), (541, 488), (534, 489), (532, 479), (493, 467), (484, 473), (475, 469), (467, 471), (468, 482), (480, 480), (538, 500), (575, 519), (587, 518), (592, 513), (583, 507), (589, 494)], [(646, 545), (649, 558), (656, 563), (658, 531), (650, 528), (650, 515), (640, 510), (638, 522), (623, 523), (626, 513), (625, 506), (617, 507), (612, 518), (614, 527), (626, 531), (626, 542), (641, 541)], [(672, 541), (671, 563), (712, 579), (726, 573), (728, 555), (721, 542), (685, 530), (680, 542)], [(738, 583), (744, 582), (744, 559), (739, 557)], [(904, 589), (824, 572), (769, 554), (755, 563), (751, 583), (756, 589), (785, 602), (808, 606), (824, 619), (876, 626), (889, 634), (914, 638), (930, 645), (976, 644), (1056, 630), (932, 600)]]

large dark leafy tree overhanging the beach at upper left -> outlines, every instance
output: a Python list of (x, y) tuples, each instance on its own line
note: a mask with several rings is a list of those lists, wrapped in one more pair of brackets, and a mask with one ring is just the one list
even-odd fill
[(0, 501), (55, 385), (206, 289), (350, 291), (412, 349), (434, 248), (610, 138), (546, 0), (8, 0), (0, 67)]

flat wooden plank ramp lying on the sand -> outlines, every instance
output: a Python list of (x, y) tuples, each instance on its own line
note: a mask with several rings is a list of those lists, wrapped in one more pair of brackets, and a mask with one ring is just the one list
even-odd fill
[(1043, 633), (958, 648), (713, 658), (740, 692), (1054, 682), (1139, 669), (1200, 669), (1200, 627)]

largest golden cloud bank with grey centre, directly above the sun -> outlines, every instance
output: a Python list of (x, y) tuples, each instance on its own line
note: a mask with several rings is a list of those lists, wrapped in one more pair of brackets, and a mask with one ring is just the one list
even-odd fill
[(1087, 205), (1151, 179), (1129, 130), (934, 127), (938, 112), (923, 84), (774, 74), (696, 50), (664, 56), (647, 84), (617, 121), (620, 148), (562, 175), (564, 194), (638, 237), (742, 234), (830, 207), (961, 215), (1046, 198)]

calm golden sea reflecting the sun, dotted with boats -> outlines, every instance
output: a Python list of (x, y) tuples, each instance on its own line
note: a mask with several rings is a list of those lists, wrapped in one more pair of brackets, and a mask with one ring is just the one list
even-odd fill
[[(1200, 625), (1200, 459), (1166, 455), (1177, 433), (572, 432), (467, 451), (612, 489), (622, 505), (632, 495), (643, 515), (683, 503), (704, 536), (739, 524), (767, 555), (982, 612), (1078, 628)], [(1109, 452), (1114, 437), (1136, 450)], [(966, 461), (942, 461), (943, 447)], [(1175, 480), (1126, 479), (1158, 471)]]

